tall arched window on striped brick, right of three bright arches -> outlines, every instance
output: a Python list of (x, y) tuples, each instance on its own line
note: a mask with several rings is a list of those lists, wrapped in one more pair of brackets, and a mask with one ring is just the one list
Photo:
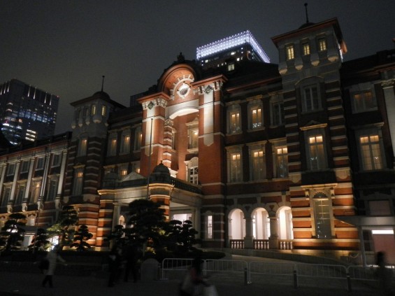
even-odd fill
[(315, 234), (317, 239), (331, 239), (331, 212), (329, 199), (314, 199)]

